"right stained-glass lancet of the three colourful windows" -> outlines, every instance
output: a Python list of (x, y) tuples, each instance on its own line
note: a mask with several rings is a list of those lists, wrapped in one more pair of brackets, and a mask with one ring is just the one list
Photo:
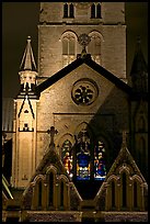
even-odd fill
[(94, 178), (104, 180), (106, 177), (105, 146), (99, 141), (94, 149)]

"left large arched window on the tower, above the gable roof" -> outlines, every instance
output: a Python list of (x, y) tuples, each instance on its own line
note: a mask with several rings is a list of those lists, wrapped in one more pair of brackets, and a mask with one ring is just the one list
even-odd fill
[(76, 59), (76, 36), (67, 32), (62, 36), (62, 66), (67, 66)]

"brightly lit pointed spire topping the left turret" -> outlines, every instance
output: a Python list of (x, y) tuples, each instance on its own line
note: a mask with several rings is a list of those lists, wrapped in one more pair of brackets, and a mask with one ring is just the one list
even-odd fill
[(34, 90), (36, 87), (36, 64), (31, 45), (31, 36), (27, 36), (27, 44), (24, 51), (24, 55), (20, 66), (20, 81), (21, 89), (18, 98), (24, 98), (24, 96), (35, 97)]

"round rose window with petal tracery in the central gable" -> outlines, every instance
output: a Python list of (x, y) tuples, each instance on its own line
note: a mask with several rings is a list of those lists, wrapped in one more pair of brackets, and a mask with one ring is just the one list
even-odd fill
[(97, 94), (99, 88), (91, 79), (80, 79), (73, 85), (72, 99), (77, 104), (90, 105), (95, 101)]

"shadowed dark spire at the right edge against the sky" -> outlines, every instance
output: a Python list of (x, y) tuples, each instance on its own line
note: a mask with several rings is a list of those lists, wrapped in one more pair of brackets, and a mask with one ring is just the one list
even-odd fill
[(136, 52), (130, 71), (134, 91), (146, 92), (148, 82), (148, 68), (141, 51), (140, 37), (137, 37)]

